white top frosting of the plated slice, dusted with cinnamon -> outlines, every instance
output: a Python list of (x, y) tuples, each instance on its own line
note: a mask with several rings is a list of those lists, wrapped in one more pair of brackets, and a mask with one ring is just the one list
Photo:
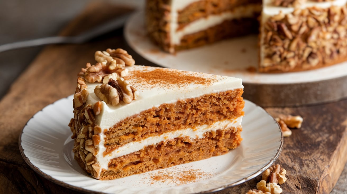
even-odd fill
[[(159, 107), (163, 103), (174, 103), (179, 99), (196, 98), (209, 93), (239, 88), (243, 89), (242, 80), (235, 77), (139, 65), (127, 68), (129, 70), (129, 76), (124, 78), (139, 92), (138, 98), (130, 104), (120, 101), (116, 106), (106, 104), (102, 101), (101, 113), (96, 117), (95, 121), (102, 130), (109, 129), (129, 116), (153, 107)], [(162, 75), (167, 77), (158, 77), (158, 73), (162, 70), (166, 72)], [(196, 81), (184, 80), (186, 78), (196, 78)], [(204, 79), (206, 79), (205, 84), (201, 83)], [(174, 84), (173, 82), (176, 83)], [(94, 94), (94, 88), (96, 85), (101, 85), (102, 83), (86, 84), (89, 92), (86, 103), (93, 105), (95, 102), (100, 101)]]

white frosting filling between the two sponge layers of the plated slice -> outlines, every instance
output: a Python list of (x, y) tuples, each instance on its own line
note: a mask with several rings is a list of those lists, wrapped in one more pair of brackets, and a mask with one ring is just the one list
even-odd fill
[(96, 155), (96, 158), (99, 161), (100, 166), (102, 168), (108, 169), (108, 164), (111, 159), (124, 156), (130, 153), (133, 153), (135, 151), (139, 151), (146, 146), (155, 145), (161, 141), (166, 141), (166, 140), (170, 140), (170, 139), (174, 139), (178, 137), (188, 136), (191, 139), (203, 138), (204, 133), (206, 132), (217, 131), (220, 129), (224, 130), (224, 129), (236, 128), (241, 125), (241, 122), (242, 122), (242, 116), (231, 121), (224, 120), (224, 121), (217, 121), (211, 125), (204, 124), (204, 125), (195, 127), (194, 129), (186, 128), (186, 129), (171, 131), (171, 132), (163, 133), (160, 136), (154, 136), (154, 137), (143, 139), (141, 141), (130, 142), (114, 150), (111, 154), (108, 154), (105, 156), (103, 155), (103, 152), (106, 150), (106, 147), (104, 146), (105, 135), (103, 132), (101, 132), (99, 152), (98, 152), (98, 155)]

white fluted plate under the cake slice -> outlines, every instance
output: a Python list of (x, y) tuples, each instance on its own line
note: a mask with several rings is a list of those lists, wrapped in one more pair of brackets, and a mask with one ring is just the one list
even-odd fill
[[(20, 152), (37, 173), (59, 185), (100, 193), (209, 193), (235, 186), (262, 173), (278, 158), (283, 136), (277, 122), (261, 107), (246, 100), (243, 141), (227, 154), (154, 170), (111, 181), (88, 176), (73, 157), (68, 127), (73, 117), (73, 96), (37, 112), (19, 136)], [(266, 142), (264, 144), (263, 142)], [(182, 182), (186, 175), (196, 175)], [(158, 179), (172, 175), (170, 179)]]

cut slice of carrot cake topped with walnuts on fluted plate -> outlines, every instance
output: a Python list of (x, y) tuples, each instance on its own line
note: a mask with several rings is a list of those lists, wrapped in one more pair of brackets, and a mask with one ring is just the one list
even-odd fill
[(134, 65), (122, 49), (95, 59), (79, 73), (69, 123), (75, 159), (94, 178), (202, 160), (240, 144), (241, 79)]

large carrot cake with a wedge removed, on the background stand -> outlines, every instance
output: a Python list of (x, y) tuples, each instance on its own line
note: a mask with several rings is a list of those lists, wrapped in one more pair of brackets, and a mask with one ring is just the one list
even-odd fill
[(259, 33), (259, 72), (347, 60), (347, 0), (147, 0), (149, 37), (178, 50)]

